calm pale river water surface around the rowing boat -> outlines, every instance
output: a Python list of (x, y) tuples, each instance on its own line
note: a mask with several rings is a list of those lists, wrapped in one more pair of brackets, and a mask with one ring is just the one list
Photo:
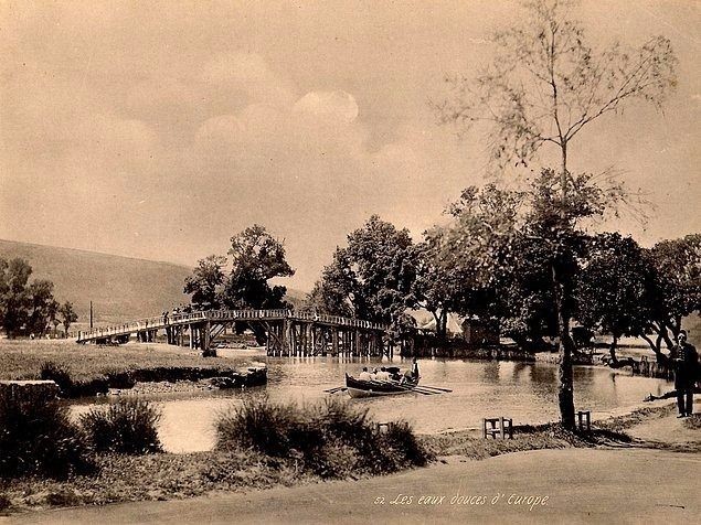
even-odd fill
[[(309, 403), (328, 396), (325, 388), (340, 386), (344, 373), (358, 375), (364, 364), (332, 357), (259, 357), (268, 364), (268, 385), (248, 393), (267, 393), (273, 400)], [(394, 364), (408, 367), (408, 361)], [(385, 362), (386, 364), (386, 362)], [(556, 420), (557, 367), (546, 363), (524, 364), (497, 361), (421, 360), (422, 384), (453, 389), (453, 393), (352, 399), (368, 407), (378, 421), (403, 418), (418, 432), (477, 428), (484, 417), (507, 416), (514, 424)], [(661, 379), (631, 377), (604, 367), (575, 367), (575, 407), (610, 414), (639, 404), (648, 393), (659, 395), (671, 386)], [(347, 394), (336, 394), (348, 397)], [(197, 398), (156, 397), (163, 413), (160, 437), (168, 451), (209, 450), (214, 444), (213, 422), (222, 411), (242, 403), (240, 390), (223, 390)], [(84, 410), (79, 408), (78, 410)]]

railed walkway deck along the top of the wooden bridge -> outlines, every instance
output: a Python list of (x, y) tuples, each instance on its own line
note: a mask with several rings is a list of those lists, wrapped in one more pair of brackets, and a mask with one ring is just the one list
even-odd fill
[(325, 315), (291, 310), (210, 310), (205, 312), (176, 313), (140, 319), (125, 324), (93, 329), (78, 332), (77, 342), (87, 343), (113, 336), (127, 335), (149, 330), (162, 330), (171, 326), (182, 326), (203, 322), (225, 323), (235, 321), (300, 321), (312, 322), (318, 325), (334, 328), (357, 328), (362, 330), (385, 331), (387, 326), (381, 323), (363, 321), (361, 319), (343, 318), (340, 315)]

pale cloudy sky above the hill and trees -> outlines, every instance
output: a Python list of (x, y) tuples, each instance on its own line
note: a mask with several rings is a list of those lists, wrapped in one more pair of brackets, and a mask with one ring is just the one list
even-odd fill
[[(701, 232), (701, 3), (585, 1), (595, 42), (663, 34), (680, 61), (571, 147), (657, 205), (608, 225), (650, 245)], [(510, 1), (8, 1), (0, 6), (0, 238), (193, 265), (265, 225), (309, 289), (371, 214), (416, 238), (485, 143), (437, 126), (446, 73), (475, 76)]]

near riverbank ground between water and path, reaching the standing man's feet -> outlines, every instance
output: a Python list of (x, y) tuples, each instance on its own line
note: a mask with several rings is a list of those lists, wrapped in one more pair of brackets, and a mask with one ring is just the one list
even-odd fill
[[(697, 419), (701, 420), (701, 417), (695, 415), (694, 421)], [(548, 452), (542, 452), (546, 458), (554, 454), (570, 461), (571, 458), (581, 456), (575, 449), (592, 450), (602, 447), (699, 453), (699, 426), (690, 422), (690, 419), (677, 419), (673, 405), (667, 404), (641, 408), (629, 415), (603, 421), (596, 425), (592, 433), (575, 435), (564, 432), (553, 425), (543, 425), (516, 427), (513, 440), (484, 440), (474, 432), (461, 431), (423, 436), (421, 441), (438, 456), (438, 464), (465, 461), (474, 464), (472, 460), (503, 454), (520, 456), (511, 453), (533, 450), (546, 450)], [(684, 425), (689, 427), (687, 430), (690, 440), (679, 442), (678, 439), (671, 439), (679, 436), (680, 428), (687, 428), (682, 427)], [(649, 433), (649, 426), (652, 426), (654, 436)], [(646, 431), (648, 433), (645, 433)], [(111, 456), (100, 458), (99, 462), (102, 471), (96, 478), (76, 476), (67, 481), (19, 480), (6, 483), (0, 488), (0, 494), (3, 494), (0, 502), (4, 501), (4, 512), (15, 514), (63, 506), (213, 497), (223, 492), (249, 493), (252, 490), (309, 484), (315, 484), (315, 488), (308, 488), (307, 491), (323, 492), (328, 486), (327, 483), (317, 484), (322, 481), (321, 478), (301, 472), (289, 462), (252, 451), (214, 450), (189, 454)], [(419, 469), (416, 473), (400, 475), (431, 478), (433, 474), (421, 472), (435, 472), (435, 469), (436, 467)], [(532, 473), (529, 478), (531, 475)], [(359, 485), (375, 483), (365, 478), (363, 480)], [(553, 485), (551, 492), (555, 489), (562, 490)], [(371, 503), (367, 501), (365, 505)], [(25, 516), (35, 516), (35, 513), (31, 512)]]

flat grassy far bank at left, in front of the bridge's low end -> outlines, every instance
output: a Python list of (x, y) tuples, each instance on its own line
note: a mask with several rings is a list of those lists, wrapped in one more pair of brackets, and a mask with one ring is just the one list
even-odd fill
[[(4, 340), (0, 342), (0, 379), (38, 379), (44, 369), (43, 378), (56, 381), (56, 376), (63, 375), (60, 386), (66, 397), (130, 388), (137, 382), (235, 377), (236, 367), (246, 364), (243, 357), (233, 362), (223, 357), (204, 358), (177, 346), (147, 343), (96, 346), (73, 341)], [(46, 375), (46, 363), (52, 363), (57, 373)], [(262, 378), (256, 377), (255, 384), (261, 384), (258, 379)]]

